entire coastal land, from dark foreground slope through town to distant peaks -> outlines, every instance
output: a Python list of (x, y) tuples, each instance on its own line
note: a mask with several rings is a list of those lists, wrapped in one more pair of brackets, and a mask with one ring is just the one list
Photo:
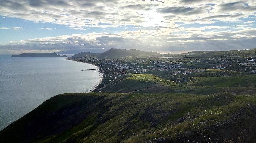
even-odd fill
[(48, 99), (2, 130), (1, 142), (254, 143), (255, 50), (80, 53), (69, 59), (103, 73), (94, 93)]

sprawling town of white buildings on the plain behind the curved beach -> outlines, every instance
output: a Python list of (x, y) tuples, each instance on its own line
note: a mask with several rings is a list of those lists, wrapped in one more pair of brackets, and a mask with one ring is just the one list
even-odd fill
[[(170, 55), (172, 56), (172, 55)], [(196, 77), (223, 77), (256, 73), (254, 57), (124, 57), (124, 58), (69, 58), (98, 66), (104, 80), (99, 89), (127, 74), (152, 74), (177, 83), (186, 83)]]

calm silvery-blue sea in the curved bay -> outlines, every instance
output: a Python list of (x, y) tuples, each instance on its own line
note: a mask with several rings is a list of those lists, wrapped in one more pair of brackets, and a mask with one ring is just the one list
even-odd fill
[(90, 92), (101, 81), (94, 65), (63, 57), (0, 55), (0, 130), (61, 93)]

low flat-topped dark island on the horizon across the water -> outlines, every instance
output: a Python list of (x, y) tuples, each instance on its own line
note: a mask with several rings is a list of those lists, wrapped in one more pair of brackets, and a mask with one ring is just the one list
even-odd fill
[(11, 57), (67, 57), (66, 55), (60, 56), (56, 53), (22, 53), (19, 55), (12, 55)]

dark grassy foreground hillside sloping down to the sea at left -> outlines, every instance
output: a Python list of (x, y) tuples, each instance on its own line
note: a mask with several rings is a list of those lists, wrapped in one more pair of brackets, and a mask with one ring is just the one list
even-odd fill
[(200, 142), (209, 141), (206, 133), (215, 142), (254, 142), (255, 104), (255, 96), (227, 93), (60, 94), (2, 130), (0, 138), (3, 143), (144, 142), (159, 136), (143, 132), (156, 131)]

